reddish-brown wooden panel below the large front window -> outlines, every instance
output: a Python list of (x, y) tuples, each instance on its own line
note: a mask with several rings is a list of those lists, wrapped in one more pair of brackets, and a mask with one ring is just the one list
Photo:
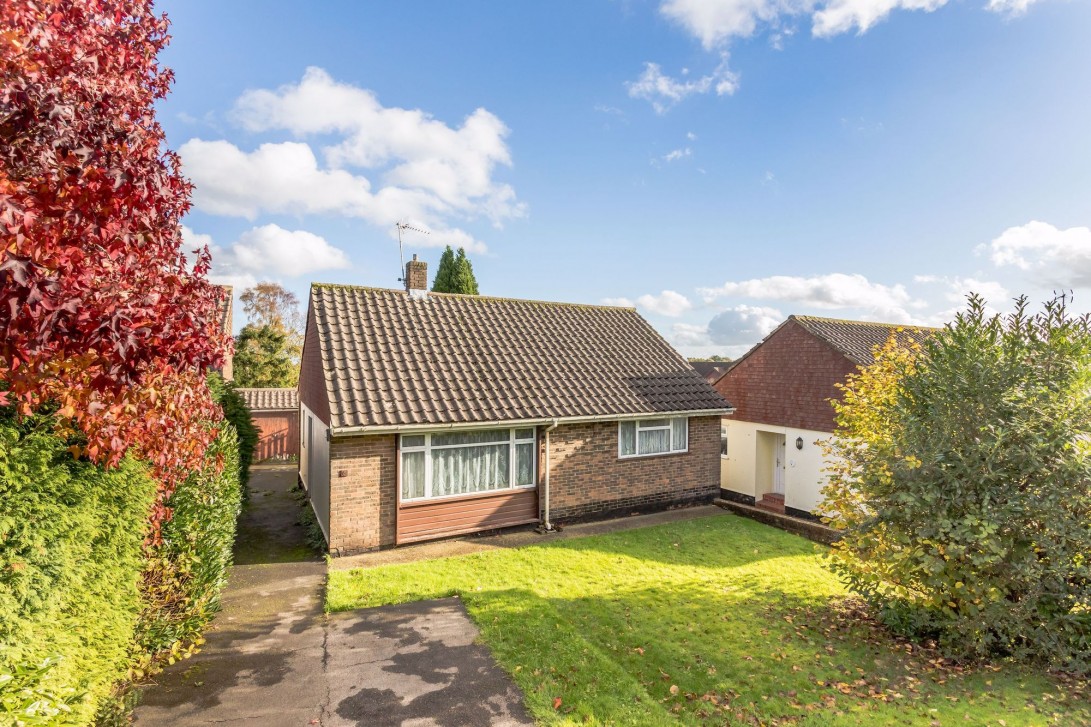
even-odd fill
[(538, 522), (538, 490), (504, 490), (398, 508), (397, 543), (491, 531)]

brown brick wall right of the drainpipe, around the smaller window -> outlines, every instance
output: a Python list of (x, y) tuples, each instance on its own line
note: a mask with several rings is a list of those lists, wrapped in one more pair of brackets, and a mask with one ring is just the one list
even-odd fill
[[(618, 457), (618, 422), (550, 432), (550, 520), (709, 501), (720, 492), (720, 418), (690, 419), (690, 451)], [(543, 502), (539, 497), (539, 502)]]

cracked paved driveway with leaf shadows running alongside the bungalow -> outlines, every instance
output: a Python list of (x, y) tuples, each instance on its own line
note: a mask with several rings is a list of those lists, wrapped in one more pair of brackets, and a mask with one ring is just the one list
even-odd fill
[(292, 468), (259, 468), (204, 649), (144, 692), (137, 725), (530, 725), (457, 598), (323, 612)]

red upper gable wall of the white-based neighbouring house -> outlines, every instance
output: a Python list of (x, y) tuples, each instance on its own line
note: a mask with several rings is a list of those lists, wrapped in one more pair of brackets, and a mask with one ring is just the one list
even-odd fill
[(815, 431), (834, 431), (834, 385), (856, 365), (832, 346), (789, 321), (719, 381), (716, 390), (734, 419)]

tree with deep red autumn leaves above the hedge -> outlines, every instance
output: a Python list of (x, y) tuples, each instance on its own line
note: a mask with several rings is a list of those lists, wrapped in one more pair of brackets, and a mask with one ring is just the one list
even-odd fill
[(0, 2), (0, 403), (56, 406), (107, 466), (149, 462), (153, 523), (215, 436), (203, 372), (229, 345), (155, 118), (167, 40), (149, 0)]

